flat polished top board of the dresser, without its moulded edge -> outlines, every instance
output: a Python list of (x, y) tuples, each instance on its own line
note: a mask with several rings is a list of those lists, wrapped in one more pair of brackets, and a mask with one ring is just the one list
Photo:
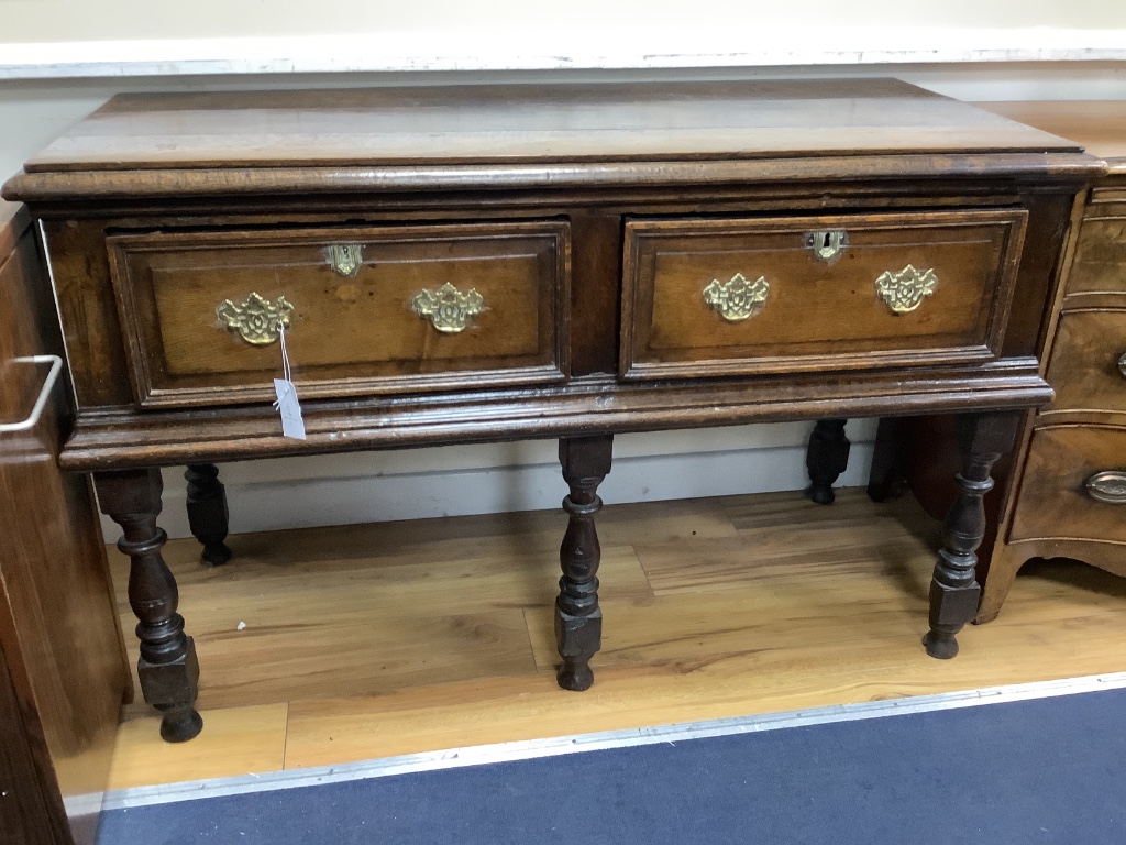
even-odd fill
[(1074, 151), (893, 79), (119, 95), (35, 171)]

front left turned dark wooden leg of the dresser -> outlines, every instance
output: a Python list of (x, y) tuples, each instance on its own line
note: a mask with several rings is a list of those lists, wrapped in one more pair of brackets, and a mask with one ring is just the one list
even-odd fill
[(101, 512), (122, 526), (117, 548), (129, 555), (129, 606), (140, 621), (137, 675), (144, 700), (163, 714), (160, 736), (168, 742), (191, 739), (204, 722), (195, 710), (199, 664), (184, 617), (176, 612), (176, 579), (161, 557), (168, 540), (157, 526), (163, 491), (159, 470), (99, 472), (93, 477)]

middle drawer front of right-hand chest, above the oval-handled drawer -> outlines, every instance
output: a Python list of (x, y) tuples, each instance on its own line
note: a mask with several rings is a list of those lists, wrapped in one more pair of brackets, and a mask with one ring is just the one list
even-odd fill
[(1048, 411), (1126, 413), (1126, 311), (1067, 311), (1060, 318)]

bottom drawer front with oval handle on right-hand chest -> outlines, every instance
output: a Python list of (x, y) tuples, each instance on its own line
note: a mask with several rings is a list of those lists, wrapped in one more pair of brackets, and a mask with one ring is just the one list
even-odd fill
[(1126, 543), (1126, 429), (1058, 426), (1033, 435), (1010, 540), (1039, 537)]

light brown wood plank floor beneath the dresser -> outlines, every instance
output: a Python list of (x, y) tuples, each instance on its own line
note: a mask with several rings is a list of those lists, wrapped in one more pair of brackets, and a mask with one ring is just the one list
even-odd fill
[(918, 639), (940, 524), (911, 499), (787, 492), (605, 508), (613, 624), (598, 684), (569, 694), (549, 611), (565, 519), (241, 535), (221, 569), (169, 542), (211, 739), (166, 745), (133, 705), (114, 786), (1126, 670), (1126, 581), (1065, 564), (1027, 568), (1002, 620), (931, 660)]

